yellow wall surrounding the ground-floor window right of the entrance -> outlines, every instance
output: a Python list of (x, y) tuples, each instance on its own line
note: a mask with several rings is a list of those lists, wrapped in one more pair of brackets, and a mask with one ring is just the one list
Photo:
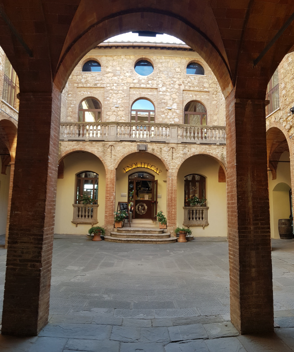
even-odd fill
[(206, 178), (208, 226), (191, 226), (192, 235), (227, 236), (226, 183), (219, 182), (220, 164), (209, 156), (192, 156), (181, 165), (177, 178), (177, 226), (184, 221), (184, 177), (199, 174)]

